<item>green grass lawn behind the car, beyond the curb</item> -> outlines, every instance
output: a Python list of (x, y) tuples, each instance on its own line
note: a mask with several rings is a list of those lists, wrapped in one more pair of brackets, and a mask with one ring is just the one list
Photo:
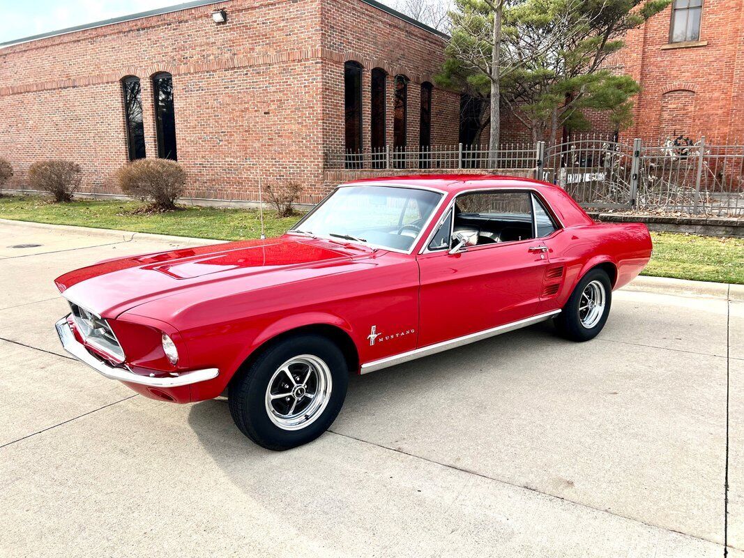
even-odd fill
[[(80, 200), (52, 204), (40, 197), (0, 198), (0, 218), (117, 228), (181, 237), (240, 240), (260, 235), (258, 211), (188, 207), (167, 214), (132, 214), (138, 202)], [(279, 219), (264, 211), (266, 236), (278, 236), (299, 217)], [(652, 233), (654, 251), (644, 275), (744, 284), (744, 239)]]

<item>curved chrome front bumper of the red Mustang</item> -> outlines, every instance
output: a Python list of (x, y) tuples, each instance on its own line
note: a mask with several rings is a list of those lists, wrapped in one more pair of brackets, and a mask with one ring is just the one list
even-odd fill
[(121, 382), (130, 382), (132, 384), (149, 385), (153, 388), (177, 388), (179, 385), (195, 384), (205, 380), (216, 378), (219, 374), (217, 368), (205, 368), (204, 370), (195, 370), (182, 373), (180, 376), (171, 376), (167, 378), (155, 378), (152, 376), (140, 376), (126, 368), (114, 368), (95, 358), (88, 352), (82, 343), (77, 342), (75, 336), (67, 323), (67, 316), (57, 321), (54, 325), (57, 329), (57, 335), (60, 336), (62, 348), (74, 356), (80, 362), (84, 362), (94, 371), (106, 376), (109, 379), (118, 379)]

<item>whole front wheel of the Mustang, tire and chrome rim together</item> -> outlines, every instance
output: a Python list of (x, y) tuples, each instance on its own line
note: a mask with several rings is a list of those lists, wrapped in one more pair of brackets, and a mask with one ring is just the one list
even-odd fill
[(267, 449), (315, 440), (341, 410), (348, 370), (341, 350), (315, 335), (267, 348), (230, 385), (230, 412), (240, 432)]

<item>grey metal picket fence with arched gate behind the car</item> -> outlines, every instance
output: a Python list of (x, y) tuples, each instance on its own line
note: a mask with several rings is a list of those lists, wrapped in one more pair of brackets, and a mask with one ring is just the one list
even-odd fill
[(487, 146), (383, 147), (333, 152), (329, 169), (519, 170), (563, 187), (586, 208), (744, 217), (744, 144), (615, 141), (577, 135), (546, 147), (542, 141)]

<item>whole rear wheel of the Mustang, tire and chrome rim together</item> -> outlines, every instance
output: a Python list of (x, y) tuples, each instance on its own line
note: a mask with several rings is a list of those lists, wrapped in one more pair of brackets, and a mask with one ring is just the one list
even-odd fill
[(555, 319), (558, 332), (571, 341), (594, 339), (607, 321), (612, 285), (603, 269), (592, 269), (571, 293)]

